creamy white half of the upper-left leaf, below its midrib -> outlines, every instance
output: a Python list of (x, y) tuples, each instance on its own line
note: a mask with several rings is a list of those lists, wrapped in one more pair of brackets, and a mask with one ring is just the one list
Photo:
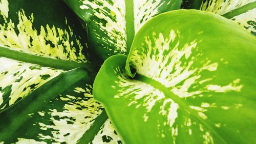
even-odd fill
[(64, 70), (0, 57), (0, 109), (14, 104)]

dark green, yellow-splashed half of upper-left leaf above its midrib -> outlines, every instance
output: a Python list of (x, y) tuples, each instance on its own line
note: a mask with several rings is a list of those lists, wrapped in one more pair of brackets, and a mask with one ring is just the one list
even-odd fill
[(51, 59), (88, 63), (87, 35), (65, 3), (2, 0), (0, 9), (1, 47)]

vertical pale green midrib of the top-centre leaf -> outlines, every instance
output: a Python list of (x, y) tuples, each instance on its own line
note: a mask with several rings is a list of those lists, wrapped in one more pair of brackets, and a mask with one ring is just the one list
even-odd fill
[(134, 35), (134, 0), (125, 0), (125, 20), (126, 20), (126, 49), (129, 53)]

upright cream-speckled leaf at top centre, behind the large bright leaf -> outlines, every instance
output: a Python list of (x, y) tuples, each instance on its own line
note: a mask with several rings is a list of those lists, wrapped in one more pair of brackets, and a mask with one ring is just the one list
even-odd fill
[(127, 54), (146, 21), (181, 5), (181, 0), (64, 1), (86, 22), (90, 44), (102, 59)]

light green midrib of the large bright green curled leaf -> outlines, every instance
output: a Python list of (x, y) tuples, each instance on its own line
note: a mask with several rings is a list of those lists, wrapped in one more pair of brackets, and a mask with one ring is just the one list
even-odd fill
[(218, 139), (220, 139), (220, 141), (222, 141), (223, 143), (227, 143), (226, 140), (224, 140), (215, 129), (213, 129), (208, 123), (205, 122), (205, 120), (203, 120), (201, 117), (198, 116), (197, 112), (194, 109), (191, 109), (183, 99), (181, 99), (179, 96), (172, 93), (162, 83), (160, 83), (157, 80), (154, 80), (152, 78), (140, 75), (138, 73), (136, 74), (135, 79), (145, 82), (147, 84), (150, 84), (152, 87), (163, 92), (164, 96), (172, 99), (174, 102), (178, 103), (182, 108), (184, 108), (186, 111), (188, 111), (188, 113), (191, 116), (195, 117), (195, 120), (199, 121), (207, 129), (209, 129)]

